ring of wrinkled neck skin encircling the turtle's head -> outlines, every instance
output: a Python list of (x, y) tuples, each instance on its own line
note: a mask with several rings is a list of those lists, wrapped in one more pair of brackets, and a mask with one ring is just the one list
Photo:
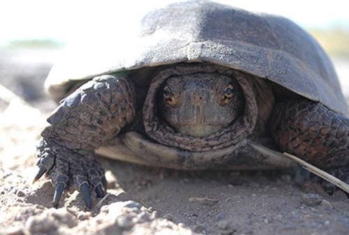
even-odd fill
[[(208, 136), (189, 136), (188, 134), (177, 132), (160, 118), (161, 115), (158, 112), (156, 97), (165, 80), (171, 76), (194, 73), (219, 73), (224, 76), (235, 77), (244, 93), (245, 107), (243, 114), (227, 127), (218, 129), (218, 131)], [(171, 69), (163, 69), (151, 80), (151, 85), (144, 101), (143, 122), (147, 135), (163, 145), (195, 152), (217, 150), (236, 145), (252, 134), (257, 120), (258, 108), (250, 77), (246, 73), (214, 64), (179, 64)]]

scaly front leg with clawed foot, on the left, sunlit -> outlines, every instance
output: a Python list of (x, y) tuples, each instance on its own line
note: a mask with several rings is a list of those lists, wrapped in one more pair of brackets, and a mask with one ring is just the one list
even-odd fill
[(100, 76), (70, 94), (52, 112), (38, 145), (38, 180), (44, 173), (55, 187), (53, 206), (64, 190), (73, 188), (91, 208), (90, 191), (103, 197), (104, 170), (94, 150), (130, 123), (135, 115), (131, 82), (117, 76)]

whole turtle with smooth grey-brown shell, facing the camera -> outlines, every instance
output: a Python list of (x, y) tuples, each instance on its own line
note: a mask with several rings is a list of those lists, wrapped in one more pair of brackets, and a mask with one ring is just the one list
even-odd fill
[(91, 192), (105, 195), (96, 154), (187, 170), (294, 165), (258, 144), (349, 179), (346, 100), (329, 57), (297, 24), (188, 1), (130, 29), (69, 52), (47, 77), (59, 106), (34, 181), (50, 178), (53, 206), (68, 189), (88, 208)]

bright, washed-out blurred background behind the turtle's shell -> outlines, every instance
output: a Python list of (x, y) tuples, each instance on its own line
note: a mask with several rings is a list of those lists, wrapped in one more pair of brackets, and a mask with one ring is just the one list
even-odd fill
[[(54, 107), (45, 97), (43, 80), (70, 41), (122, 36), (128, 22), (173, 1), (47, 1), (0, 2), (0, 94), (5, 90), (39, 108)], [(349, 13), (347, 1), (221, 0), (246, 10), (283, 15), (309, 31), (336, 66), (343, 92), (349, 97)], [(116, 26), (118, 24), (118, 26)], [(88, 56), (88, 50), (86, 51)], [(11, 96), (13, 94), (8, 94)], [(4, 96), (4, 95), (3, 95)], [(3, 98), (8, 99), (8, 98)]]

